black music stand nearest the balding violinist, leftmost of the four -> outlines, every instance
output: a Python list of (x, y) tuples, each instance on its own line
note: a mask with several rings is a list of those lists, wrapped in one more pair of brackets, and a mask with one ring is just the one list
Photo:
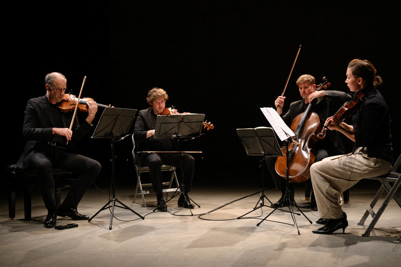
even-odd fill
[[(111, 198), (101, 209), (99, 209), (99, 211), (96, 212), (95, 215), (93, 215), (88, 221), (91, 221), (97, 214), (99, 214), (100, 211), (110, 208), (110, 203), (112, 203), (109, 226), (110, 230), (113, 223), (114, 207), (128, 209), (138, 215), (141, 219), (145, 219), (143, 216), (118, 200), (115, 196), (114, 143), (119, 142), (125, 137), (129, 136), (127, 133), (131, 129), (136, 112), (136, 109), (106, 108), (103, 111), (103, 114), (99, 119), (92, 136), (92, 138), (107, 138), (111, 141), (111, 184), (113, 198)], [(116, 205), (116, 202), (122, 206)]]

